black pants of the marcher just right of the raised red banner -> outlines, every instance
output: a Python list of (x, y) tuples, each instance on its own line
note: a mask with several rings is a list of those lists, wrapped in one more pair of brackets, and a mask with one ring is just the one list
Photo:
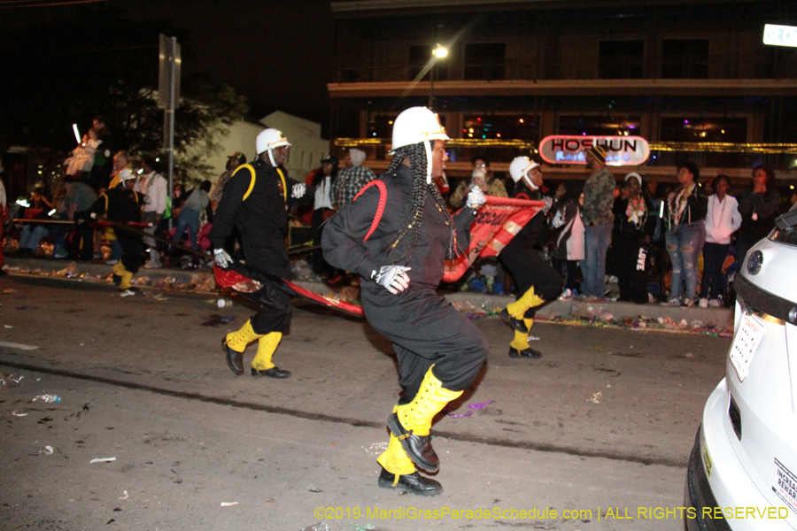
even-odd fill
[[(499, 255), (501, 262), (507, 266), (517, 285), (517, 294), (522, 296), (532, 286), (534, 294), (541, 299), (552, 301), (561, 294), (561, 274), (543, 259), (539, 252), (529, 248), (507, 247)], [(538, 306), (526, 311), (526, 319), (534, 319)]]

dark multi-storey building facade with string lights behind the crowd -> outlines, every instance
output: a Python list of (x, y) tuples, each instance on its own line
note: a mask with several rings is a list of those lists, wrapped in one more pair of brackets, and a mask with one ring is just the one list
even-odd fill
[[(549, 135), (641, 136), (643, 175), (748, 180), (769, 164), (797, 172), (797, 49), (762, 43), (765, 24), (797, 24), (785, 0), (341, 0), (337, 79), (328, 85), (334, 148), (387, 165), (392, 120), (429, 105), (452, 136), (452, 176), (486, 154), (506, 170)], [(444, 47), (445, 58), (432, 51)], [(553, 178), (583, 176), (553, 165)], [(629, 169), (628, 171), (631, 171)], [(615, 173), (621, 173), (618, 169)], [(785, 182), (785, 181), (784, 181)], [(793, 183), (792, 183), (793, 184)]]

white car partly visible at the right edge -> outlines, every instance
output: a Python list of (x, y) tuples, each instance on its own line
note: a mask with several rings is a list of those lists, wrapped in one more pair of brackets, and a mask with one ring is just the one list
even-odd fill
[(797, 205), (733, 286), (733, 343), (689, 459), (686, 528), (797, 529)]

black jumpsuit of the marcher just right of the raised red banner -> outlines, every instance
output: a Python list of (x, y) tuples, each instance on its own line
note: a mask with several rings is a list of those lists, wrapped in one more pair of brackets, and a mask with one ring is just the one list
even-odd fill
[[(515, 185), (512, 196), (518, 199), (530, 199), (535, 196), (535, 192), (528, 189), (521, 181)], [(556, 273), (538, 251), (538, 247), (545, 244), (549, 235), (546, 214), (539, 211), (501, 250), (499, 258), (515, 279), (518, 297), (532, 286), (535, 295), (546, 301), (555, 299), (561, 293), (561, 274)], [(538, 307), (529, 308), (523, 317), (534, 319), (537, 310)]]

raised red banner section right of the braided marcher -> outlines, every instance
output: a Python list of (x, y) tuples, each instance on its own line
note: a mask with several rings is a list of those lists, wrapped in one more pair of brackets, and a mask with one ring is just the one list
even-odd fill
[(498, 256), (545, 205), (545, 201), (487, 196), (487, 203), (479, 209), (470, 226), (468, 254), (455, 260), (446, 260), (443, 281), (460, 280), (476, 257)]

